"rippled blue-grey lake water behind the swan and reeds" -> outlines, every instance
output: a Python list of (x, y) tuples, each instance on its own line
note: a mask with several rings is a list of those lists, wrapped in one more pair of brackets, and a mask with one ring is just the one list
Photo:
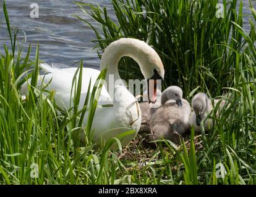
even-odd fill
[[(2, 12), (2, 0), (0, 11), (0, 53), (3, 53), (2, 44), (9, 44), (9, 36), (6, 30), (4, 14)], [(110, 0), (80, 1), (93, 2), (107, 7), (114, 18), (113, 7)], [(249, 15), (249, 0), (243, 0), (244, 14)], [(256, 0), (253, 0), (254, 6)], [(38, 19), (30, 17), (30, 4), (39, 5)], [(54, 65), (67, 67), (75, 62), (85, 60), (84, 65), (98, 68), (100, 60), (96, 50), (92, 50), (95, 34), (84, 23), (77, 20), (74, 15), (86, 18), (79, 7), (70, 0), (6, 0), (7, 10), (11, 26), (23, 30), (27, 35), (27, 44), (32, 44), (32, 57), (35, 54), (36, 43), (40, 43), (40, 60), (46, 63), (54, 62)], [(245, 17), (246, 18), (246, 17)], [(245, 29), (249, 30), (249, 23), (245, 23)], [(20, 31), (20, 40), (23, 38)]]

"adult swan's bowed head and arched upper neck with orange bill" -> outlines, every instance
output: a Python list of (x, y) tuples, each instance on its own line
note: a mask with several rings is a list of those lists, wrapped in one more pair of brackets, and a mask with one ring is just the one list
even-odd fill
[(164, 66), (161, 58), (146, 42), (133, 38), (121, 38), (109, 44), (105, 49), (101, 58), (101, 69), (109, 65), (108, 71), (117, 73), (118, 62), (124, 56), (133, 58), (139, 64), (148, 82), (148, 102), (155, 103), (157, 85), (161, 84), (158, 80), (164, 79)]

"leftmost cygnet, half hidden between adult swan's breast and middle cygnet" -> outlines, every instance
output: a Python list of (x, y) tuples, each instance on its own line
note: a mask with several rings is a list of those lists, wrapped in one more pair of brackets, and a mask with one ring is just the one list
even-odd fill
[(157, 89), (156, 91), (156, 100), (160, 101), (160, 103), (148, 103), (148, 93), (147, 91), (143, 94), (143, 102), (140, 102), (140, 111), (142, 114), (142, 124), (140, 126), (140, 131), (142, 132), (150, 132), (149, 122), (151, 119), (151, 115), (156, 111), (158, 107), (161, 106), (161, 91)]

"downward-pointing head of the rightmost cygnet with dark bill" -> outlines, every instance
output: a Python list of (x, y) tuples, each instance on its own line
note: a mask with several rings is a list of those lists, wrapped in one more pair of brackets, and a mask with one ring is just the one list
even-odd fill
[(200, 126), (202, 115), (207, 110), (208, 96), (205, 93), (198, 93), (192, 99), (192, 108), (196, 115), (197, 126)]

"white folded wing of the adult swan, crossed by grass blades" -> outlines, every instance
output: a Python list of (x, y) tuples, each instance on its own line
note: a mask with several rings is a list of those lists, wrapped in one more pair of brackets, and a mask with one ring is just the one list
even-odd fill
[[(41, 86), (43, 82), (43, 87), (48, 84), (46, 90), (54, 90), (57, 98), (57, 102), (61, 105), (65, 105), (65, 107), (70, 106), (70, 94), (74, 95), (74, 89), (72, 90), (72, 82), (74, 78), (74, 74), (77, 71), (77, 68), (57, 68), (55, 66), (49, 66), (45, 63), (40, 64), (40, 68), (45, 72), (44, 75), (38, 76), (38, 86)], [(80, 105), (83, 105), (84, 100), (86, 98), (88, 92), (88, 86), (91, 80), (91, 88), (90, 92), (93, 90), (93, 85), (96, 82), (100, 74), (99, 70), (95, 70), (92, 68), (83, 68), (82, 71), (82, 89), (81, 89), (81, 97), (80, 97)], [(77, 79), (79, 78), (79, 74), (77, 74)], [(77, 80), (78, 81), (78, 80)], [(30, 81), (28, 81), (30, 82)], [(23, 84), (22, 94), (27, 94), (27, 83)], [(109, 105), (111, 102), (105, 102), (106, 100), (110, 100), (111, 98), (108, 94), (108, 91), (103, 86), (101, 89), (100, 98), (98, 100), (99, 105)]]

